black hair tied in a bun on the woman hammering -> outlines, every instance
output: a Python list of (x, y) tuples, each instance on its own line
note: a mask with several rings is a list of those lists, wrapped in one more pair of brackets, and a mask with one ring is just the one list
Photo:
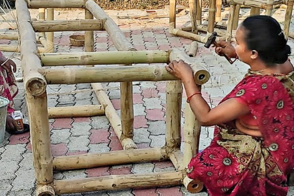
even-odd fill
[(249, 50), (256, 50), (268, 66), (285, 63), (291, 54), (280, 24), (270, 16), (250, 16), (241, 27)]

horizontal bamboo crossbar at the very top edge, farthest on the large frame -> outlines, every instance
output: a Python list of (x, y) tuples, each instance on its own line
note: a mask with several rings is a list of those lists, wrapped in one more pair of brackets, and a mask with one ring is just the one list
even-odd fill
[(26, 0), (29, 8), (84, 8), (84, 0)]

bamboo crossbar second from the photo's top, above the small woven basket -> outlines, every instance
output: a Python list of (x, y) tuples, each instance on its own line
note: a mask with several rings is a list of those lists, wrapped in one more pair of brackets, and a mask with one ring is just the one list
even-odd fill
[(56, 31), (100, 31), (103, 30), (102, 20), (53, 20), (31, 21), (35, 32)]

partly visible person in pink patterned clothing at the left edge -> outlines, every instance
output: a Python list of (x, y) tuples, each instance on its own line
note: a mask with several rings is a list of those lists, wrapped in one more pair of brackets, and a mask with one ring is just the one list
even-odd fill
[(14, 112), (13, 98), (18, 93), (18, 87), (13, 75), (13, 72), (16, 72), (16, 65), (11, 59), (4, 57), (1, 52), (0, 65), (0, 96), (9, 100), (7, 107), (6, 131), (14, 133), (16, 131), (16, 122), (11, 117), (11, 113)]

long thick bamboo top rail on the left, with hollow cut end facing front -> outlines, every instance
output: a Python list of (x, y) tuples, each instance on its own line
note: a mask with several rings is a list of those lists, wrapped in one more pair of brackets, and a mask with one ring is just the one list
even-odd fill
[[(46, 91), (46, 79), (39, 73), (41, 61), (37, 54), (36, 34), (28, 22), (31, 20), (25, 0), (16, 1), (16, 13), (21, 38), (21, 66), (24, 74), (26, 92), (39, 96)], [(1, 49), (0, 49), (1, 50)], [(47, 109), (47, 108), (46, 108)]]

